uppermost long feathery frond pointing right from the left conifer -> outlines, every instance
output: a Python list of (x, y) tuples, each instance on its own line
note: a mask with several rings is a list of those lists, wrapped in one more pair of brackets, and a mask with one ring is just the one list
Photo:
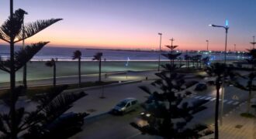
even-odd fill
[[(53, 25), (55, 22), (61, 21), (62, 19), (47, 19), (47, 20), (38, 20), (36, 22), (31, 22), (25, 25), (24, 34), (19, 32), (16, 35), (16, 41), (19, 42), (23, 39), (27, 39), (31, 36), (36, 35), (36, 33), (46, 29), (48, 26)], [(24, 37), (23, 37), (24, 36)]]

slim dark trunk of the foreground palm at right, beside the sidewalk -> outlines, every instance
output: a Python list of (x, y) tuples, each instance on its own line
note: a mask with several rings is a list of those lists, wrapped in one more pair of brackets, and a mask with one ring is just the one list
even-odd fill
[(214, 132), (214, 138), (219, 138), (219, 103), (220, 103), (220, 82), (217, 81), (218, 84), (216, 84), (216, 106), (215, 106), (215, 132)]

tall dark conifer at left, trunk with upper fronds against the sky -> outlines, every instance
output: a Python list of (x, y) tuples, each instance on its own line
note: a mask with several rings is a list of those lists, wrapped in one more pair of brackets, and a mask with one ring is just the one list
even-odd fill
[[(10, 44), (10, 59), (1, 61), (0, 70), (4, 70), (10, 74), (11, 103), (9, 105), (9, 114), (11, 115), (11, 120), (9, 121), (9, 124), (11, 125), (10, 127), (12, 127), (10, 129), (12, 138), (17, 138), (18, 131), (16, 123), (16, 118), (18, 118), (16, 117), (16, 99), (18, 98), (18, 93), (16, 93), (16, 71), (24, 66), (48, 42), (39, 42), (32, 44), (31, 46), (26, 46), (28, 49), (20, 50), (18, 53), (14, 52), (14, 44), (35, 35), (37, 32), (40, 32), (61, 20), (49, 19), (28, 23), (25, 25), (24, 32), (22, 32), (22, 22), (25, 13), (26, 12), (22, 9), (18, 9), (13, 13), (13, 0), (10, 0), (9, 19), (7, 19), (0, 27), (0, 39)], [(22, 55), (20, 53), (27, 53), (27, 55)]]

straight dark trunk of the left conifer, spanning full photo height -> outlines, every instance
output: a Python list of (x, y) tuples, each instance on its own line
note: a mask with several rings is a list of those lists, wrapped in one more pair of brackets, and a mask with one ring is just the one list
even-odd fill
[[(11, 19), (11, 25), (13, 28), (13, 0), (10, 0), (10, 19)], [(17, 126), (16, 126), (16, 93), (15, 93), (15, 87), (16, 87), (16, 75), (15, 75), (15, 66), (14, 66), (14, 36), (13, 36), (13, 29), (11, 28), (10, 34), (10, 88), (11, 88), (11, 108), (10, 108), (10, 114), (11, 114), (11, 137), (12, 139), (17, 138)]]

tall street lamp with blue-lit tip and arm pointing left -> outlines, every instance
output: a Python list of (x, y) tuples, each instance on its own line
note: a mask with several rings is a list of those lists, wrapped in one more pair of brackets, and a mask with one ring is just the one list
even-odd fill
[[(223, 26), (223, 25), (209, 25), (209, 26), (213, 26), (213, 27), (217, 27), (217, 28), (223, 28), (226, 31), (225, 53), (224, 53), (224, 64), (226, 66), (226, 60), (227, 60), (227, 31), (229, 29), (228, 21), (226, 20), (226, 26)], [(222, 125), (222, 123), (223, 123), (223, 100), (224, 100), (224, 93), (225, 93), (224, 86), (225, 86), (225, 82), (224, 82), (224, 79), (223, 79), (223, 90), (222, 90), (222, 94), (221, 94), (220, 125)]]

